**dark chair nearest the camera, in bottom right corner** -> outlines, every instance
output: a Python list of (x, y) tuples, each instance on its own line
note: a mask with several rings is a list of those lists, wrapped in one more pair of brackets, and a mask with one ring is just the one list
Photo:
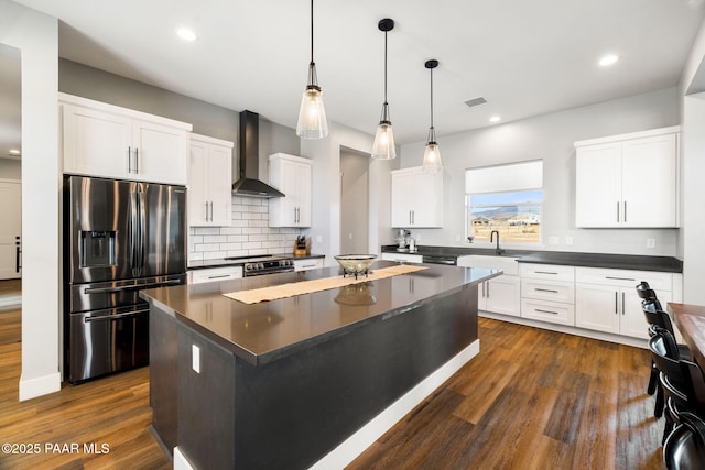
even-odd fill
[(705, 469), (705, 422), (687, 412), (663, 445), (663, 463), (669, 470)]

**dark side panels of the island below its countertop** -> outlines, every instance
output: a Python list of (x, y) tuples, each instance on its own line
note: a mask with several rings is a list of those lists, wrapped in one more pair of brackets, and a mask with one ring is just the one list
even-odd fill
[(303, 469), (478, 339), (477, 285), (259, 367), (178, 329), (177, 445), (192, 464)]

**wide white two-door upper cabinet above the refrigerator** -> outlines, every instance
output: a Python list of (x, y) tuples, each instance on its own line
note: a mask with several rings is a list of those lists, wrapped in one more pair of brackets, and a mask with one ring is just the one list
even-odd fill
[(59, 94), (64, 173), (186, 184), (192, 125)]

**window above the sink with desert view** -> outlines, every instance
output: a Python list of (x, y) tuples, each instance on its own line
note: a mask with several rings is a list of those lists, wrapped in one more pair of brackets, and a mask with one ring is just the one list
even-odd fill
[(466, 236), (489, 241), (540, 243), (543, 162), (470, 168), (465, 172)]

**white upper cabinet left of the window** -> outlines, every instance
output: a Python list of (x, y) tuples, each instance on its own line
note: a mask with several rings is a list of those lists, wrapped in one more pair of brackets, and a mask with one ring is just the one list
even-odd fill
[(443, 227), (443, 172), (421, 166), (392, 173), (392, 227)]

